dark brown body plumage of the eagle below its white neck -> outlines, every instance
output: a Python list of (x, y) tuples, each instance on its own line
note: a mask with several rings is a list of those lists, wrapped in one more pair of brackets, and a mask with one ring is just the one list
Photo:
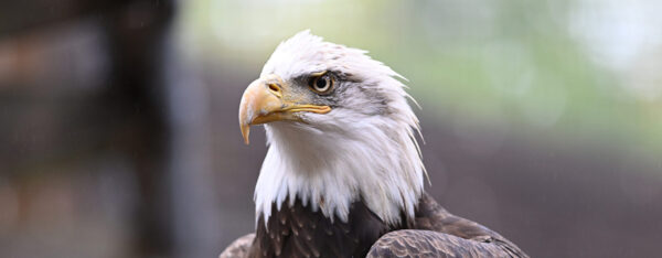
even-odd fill
[[(286, 202), (287, 203), (287, 202)], [(267, 229), (268, 227), (268, 229)], [(239, 257), (527, 257), (489, 228), (448, 213), (424, 194), (414, 222), (388, 227), (361, 202), (348, 223), (333, 222), (300, 202), (274, 213), (267, 226), (231, 244), (221, 258)]]

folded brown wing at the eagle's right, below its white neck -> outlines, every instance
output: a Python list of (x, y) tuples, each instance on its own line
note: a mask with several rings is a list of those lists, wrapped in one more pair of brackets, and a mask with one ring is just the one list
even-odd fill
[(412, 229), (382, 236), (367, 257), (528, 257), (498, 233), (448, 213), (427, 193), (418, 205)]

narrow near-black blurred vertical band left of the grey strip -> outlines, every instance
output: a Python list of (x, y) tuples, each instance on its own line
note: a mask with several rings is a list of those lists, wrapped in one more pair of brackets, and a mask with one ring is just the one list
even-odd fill
[(106, 101), (132, 125), (120, 144), (132, 159), (138, 184), (134, 211), (137, 252), (172, 252), (171, 211), (168, 196), (167, 149), (170, 135), (163, 103), (163, 56), (173, 15), (171, 1), (129, 1), (104, 13), (102, 22), (110, 57)]

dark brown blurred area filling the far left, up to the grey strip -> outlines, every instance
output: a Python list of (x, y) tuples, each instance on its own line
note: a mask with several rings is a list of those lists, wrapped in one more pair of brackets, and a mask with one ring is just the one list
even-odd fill
[[(0, 170), (14, 202), (2, 205), (3, 256), (169, 256), (162, 64), (173, 2), (2, 6)], [(106, 230), (126, 240), (108, 243)]]

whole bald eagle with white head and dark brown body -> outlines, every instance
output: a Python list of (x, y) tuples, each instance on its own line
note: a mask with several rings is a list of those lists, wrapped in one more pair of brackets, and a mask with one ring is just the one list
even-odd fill
[(239, 106), (269, 146), (256, 232), (221, 257), (527, 257), (424, 191), (418, 119), (403, 77), (309, 31), (280, 43)]

